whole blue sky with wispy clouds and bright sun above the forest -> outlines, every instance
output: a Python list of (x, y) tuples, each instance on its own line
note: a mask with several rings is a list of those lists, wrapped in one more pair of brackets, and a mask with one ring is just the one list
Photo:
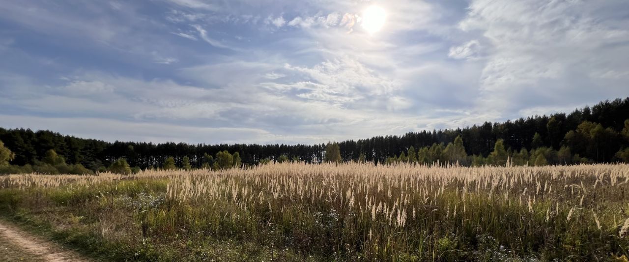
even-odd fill
[(0, 2), (4, 128), (311, 144), (629, 96), (626, 0)]

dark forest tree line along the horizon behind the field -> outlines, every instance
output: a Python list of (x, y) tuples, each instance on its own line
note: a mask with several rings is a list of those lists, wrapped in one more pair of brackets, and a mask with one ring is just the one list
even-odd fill
[[(369, 161), (376, 164), (392, 162), (392, 157), (399, 159), (403, 152), (403, 157), (415, 153), (415, 157), (423, 157), (421, 161), (428, 162), (450, 161), (447, 157), (456, 156), (460, 164), (491, 164), (494, 160), (490, 157), (496, 151), (497, 144), (504, 147), (509, 159), (526, 159), (529, 164), (534, 164), (538, 158), (541, 164), (540, 154), (543, 154), (548, 164), (628, 161), (628, 118), (629, 98), (625, 98), (603, 101), (569, 114), (555, 113), (502, 123), (485, 122), (466, 128), (346, 140), (338, 142), (338, 147), (343, 161)], [(457, 137), (460, 137), (460, 141), (456, 141)], [(42, 164), (49, 152), (53, 151), (63, 157), (67, 166), (77, 168), (76, 165), (80, 164), (91, 171), (109, 168), (120, 159), (140, 169), (162, 168), (170, 157), (175, 166), (186, 166), (187, 161), (191, 168), (202, 168), (208, 164), (206, 156), (216, 157), (219, 152), (225, 151), (238, 154), (243, 166), (267, 161), (323, 162), (326, 155), (326, 144), (105, 142), (24, 128), (0, 128), (0, 140), (11, 152), (11, 160), (6, 161), (7, 165), (36, 166)], [(447, 150), (448, 146), (450, 150)], [(411, 147), (413, 153), (409, 152)], [(568, 152), (571, 161), (566, 161)], [(535, 159), (531, 159), (532, 156)]]

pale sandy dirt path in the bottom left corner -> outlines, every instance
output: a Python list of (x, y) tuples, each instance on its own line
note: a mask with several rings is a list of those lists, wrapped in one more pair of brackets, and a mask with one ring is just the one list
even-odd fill
[(41, 237), (32, 236), (0, 219), (0, 261), (89, 261)]

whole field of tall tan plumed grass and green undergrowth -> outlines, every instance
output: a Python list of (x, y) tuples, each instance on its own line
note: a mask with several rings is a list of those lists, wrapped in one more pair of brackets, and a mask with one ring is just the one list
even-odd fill
[(0, 213), (115, 261), (627, 261), (628, 181), (627, 164), (9, 175)]

